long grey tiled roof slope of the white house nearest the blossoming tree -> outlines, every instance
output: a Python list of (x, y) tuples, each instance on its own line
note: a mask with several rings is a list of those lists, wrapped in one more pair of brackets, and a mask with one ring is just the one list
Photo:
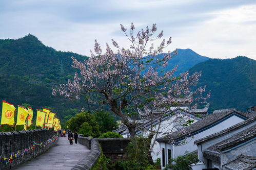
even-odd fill
[[(183, 139), (186, 136), (193, 135), (193, 133), (196, 131), (202, 130), (216, 122), (219, 122), (221, 119), (231, 115), (232, 113), (237, 113), (237, 114), (240, 114), (240, 115), (248, 118), (246, 113), (237, 111), (234, 108), (215, 110), (212, 114), (206, 116), (202, 120), (199, 120), (198, 122), (184, 128), (182, 130), (175, 131), (175, 132), (171, 133), (169, 137), (175, 141), (179, 141), (180, 139)], [(157, 141), (169, 142), (169, 137), (157, 138)]]

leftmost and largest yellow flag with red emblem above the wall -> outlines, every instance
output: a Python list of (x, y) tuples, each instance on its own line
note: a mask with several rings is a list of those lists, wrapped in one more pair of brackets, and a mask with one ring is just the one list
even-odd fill
[(3, 101), (3, 108), (2, 108), (2, 117), (1, 117), (1, 125), (7, 124), (7, 125), (14, 125), (14, 112), (15, 107)]

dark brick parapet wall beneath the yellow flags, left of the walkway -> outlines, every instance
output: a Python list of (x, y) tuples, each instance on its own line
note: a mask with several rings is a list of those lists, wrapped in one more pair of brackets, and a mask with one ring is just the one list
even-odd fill
[(46, 143), (47, 140), (49, 140), (53, 136), (56, 136), (56, 132), (46, 129), (34, 129), (4, 133), (0, 132), (0, 154), (2, 155), (0, 169), (10, 169), (18, 164), (22, 164), (28, 160), (35, 158), (38, 155), (41, 155), (50, 147), (56, 145), (56, 140), (48, 143), (46, 147), (35, 145), (34, 149), (29, 151), (30, 153), (25, 153), (23, 156), (15, 157), (13, 155), (12, 162), (9, 162), (8, 164), (4, 163), (3, 160), (3, 158), (8, 158), (8, 161), (11, 153), (16, 154), (19, 151), (22, 154), (25, 149), (33, 147), (33, 144), (35, 142)]

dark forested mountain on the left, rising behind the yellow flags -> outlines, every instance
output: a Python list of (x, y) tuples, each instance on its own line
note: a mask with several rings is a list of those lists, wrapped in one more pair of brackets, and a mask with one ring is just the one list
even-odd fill
[(71, 56), (80, 61), (87, 58), (56, 51), (31, 34), (16, 40), (0, 39), (0, 100), (15, 106), (30, 104), (34, 112), (50, 107), (61, 118), (74, 114), (72, 108), (86, 108), (85, 102), (52, 95), (52, 88), (65, 83), (76, 71), (71, 67)]

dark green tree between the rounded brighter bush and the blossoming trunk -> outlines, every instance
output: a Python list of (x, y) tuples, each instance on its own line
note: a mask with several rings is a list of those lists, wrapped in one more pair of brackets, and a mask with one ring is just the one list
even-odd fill
[(118, 128), (118, 125), (111, 113), (108, 111), (95, 111), (94, 116), (100, 126), (102, 133), (112, 131)]

